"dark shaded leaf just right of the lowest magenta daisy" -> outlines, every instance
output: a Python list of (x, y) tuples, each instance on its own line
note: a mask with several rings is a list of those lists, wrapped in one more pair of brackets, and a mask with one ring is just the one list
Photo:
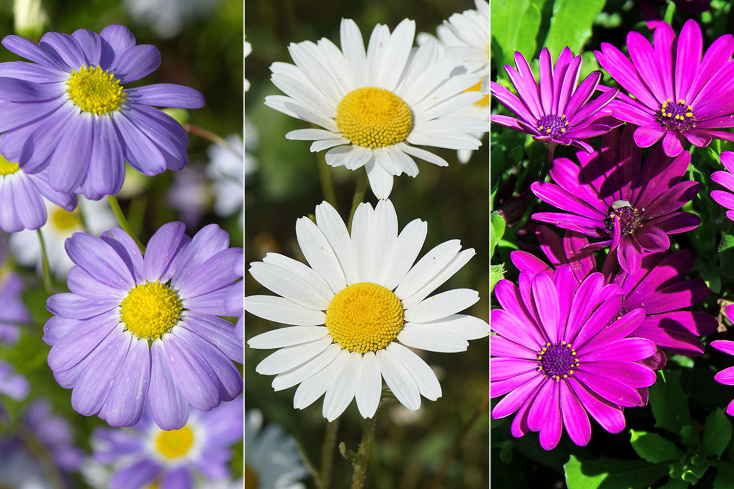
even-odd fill
[(655, 416), (655, 427), (678, 434), (691, 424), (688, 414), (688, 397), (680, 388), (680, 371), (658, 372), (658, 380), (650, 386), (650, 407)]

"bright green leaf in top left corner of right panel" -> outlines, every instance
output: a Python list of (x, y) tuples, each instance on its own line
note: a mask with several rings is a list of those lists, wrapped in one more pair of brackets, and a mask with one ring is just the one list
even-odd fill
[(492, 51), (498, 65), (514, 65), (515, 51), (520, 51), (526, 59), (532, 58), (541, 8), (542, 1), (491, 0)]

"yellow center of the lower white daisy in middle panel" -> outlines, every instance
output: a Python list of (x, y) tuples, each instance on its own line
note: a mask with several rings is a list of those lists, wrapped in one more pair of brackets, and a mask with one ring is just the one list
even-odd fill
[(382, 285), (352, 284), (329, 303), (326, 326), (341, 348), (359, 353), (381, 350), (403, 328), (403, 306)]

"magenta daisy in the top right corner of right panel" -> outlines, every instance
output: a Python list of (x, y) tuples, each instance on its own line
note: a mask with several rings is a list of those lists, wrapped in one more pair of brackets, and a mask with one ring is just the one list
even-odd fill
[(635, 143), (648, 147), (663, 139), (666, 155), (677, 156), (686, 139), (704, 147), (711, 138), (734, 141), (734, 36), (719, 37), (701, 57), (701, 29), (694, 20), (680, 37), (668, 23), (655, 28), (653, 45), (639, 32), (627, 35), (631, 59), (609, 43), (594, 51), (599, 64), (629, 92), (617, 94), (611, 114), (638, 126)]

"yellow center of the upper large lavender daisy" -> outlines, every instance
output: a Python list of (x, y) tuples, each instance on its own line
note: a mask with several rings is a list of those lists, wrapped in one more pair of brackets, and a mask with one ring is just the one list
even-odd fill
[(82, 66), (79, 71), (72, 70), (66, 82), (69, 98), (82, 111), (106, 114), (116, 111), (123, 105), (127, 94), (123, 93), (120, 80), (115, 74), (103, 71), (98, 66)]

